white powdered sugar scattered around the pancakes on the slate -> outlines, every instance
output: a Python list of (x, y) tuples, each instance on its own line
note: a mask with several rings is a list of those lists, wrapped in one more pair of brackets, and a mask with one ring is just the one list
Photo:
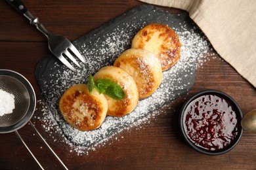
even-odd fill
[[(154, 10), (157, 12), (158, 10)], [(45, 131), (55, 131), (61, 133), (65, 143), (70, 144), (70, 152), (77, 154), (87, 154), (88, 150), (95, 150), (96, 146), (102, 146), (115, 134), (131, 127), (140, 127), (150, 118), (154, 118), (160, 112), (156, 111), (165, 104), (173, 101), (182, 93), (188, 92), (194, 83), (194, 76), (198, 61), (203, 61), (205, 53), (211, 48), (207, 39), (198, 31), (195, 25), (188, 22), (170, 22), (171, 16), (165, 13), (161, 18), (161, 24), (168, 24), (179, 36), (182, 43), (181, 58), (168, 71), (163, 72), (163, 81), (160, 87), (150, 97), (140, 99), (139, 104), (133, 112), (121, 118), (107, 116), (99, 129), (93, 131), (79, 131), (70, 126), (61, 116), (58, 110), (58, 101), (64, 91), (77, 83), (87, 83), (89, 74), (94, 74), (98, 69), (106, 65), (112, 65), (115, 59), (124, 51), (130, 48), (134, 35), (144, 25), (150, 22), (158, 22), (160, 18), (148, 20), (148, 18), (137, 18), (129, 22), (121, 22), (111, 31), (100, 29), (91, 37), (79, 39), (74, 42), (87, 65), (83, 65), (77, 74), (66, 69), (65, 66), (58, 65), (49, 71), (51, 73), (43, 80), (42, 92), (46, 103), (43, 105), (43, 118), (39, 116), (45, 124)], [(139, 22), (138, 22), (139, 21)], [(160, 22), (160, 21), (159, 21)]]

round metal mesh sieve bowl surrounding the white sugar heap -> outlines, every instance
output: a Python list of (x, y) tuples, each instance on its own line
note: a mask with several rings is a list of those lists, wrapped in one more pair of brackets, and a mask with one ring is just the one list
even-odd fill
[(15, 105), (12, 113), (0, 116), (0, 133), (16, 131), (26, 125), (33, 115), (35, 92), (24, 76), (3, 69), (0, 69), (0, 89), (14, 95)]

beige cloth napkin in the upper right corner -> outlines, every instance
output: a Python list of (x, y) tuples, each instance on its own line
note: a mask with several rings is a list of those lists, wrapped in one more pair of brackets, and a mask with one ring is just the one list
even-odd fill
[(213, 48), (256, 88), (256, 0), (140, 0), (186, 10)]

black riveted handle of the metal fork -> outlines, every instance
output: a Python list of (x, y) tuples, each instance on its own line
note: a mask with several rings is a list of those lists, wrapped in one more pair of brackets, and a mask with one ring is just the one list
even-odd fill
[(30, 24), (35, 25), (39, 31), (41, 31), (47, 38), (49, 38), (49, 32), (43, 24), (41, 24), (37, 17), (34, 17), (28, 9), (26, 9), (25, 5), (23, 5), (20, 0), (5, 0), (5, 2), (9, 3), (14, 9), (18, 10), (22, 15), (24, 15), (28, 20), (30, 20)]

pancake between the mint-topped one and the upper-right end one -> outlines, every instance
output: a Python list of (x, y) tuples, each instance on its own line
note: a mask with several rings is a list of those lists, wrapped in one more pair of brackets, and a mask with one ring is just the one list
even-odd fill
[(135, 48), (126, 50), (116, 59), (114, 66), (120, 67), (133, 76), (140, 99), (152, 95), (161, 84), (161, 63), (148, 50)]

